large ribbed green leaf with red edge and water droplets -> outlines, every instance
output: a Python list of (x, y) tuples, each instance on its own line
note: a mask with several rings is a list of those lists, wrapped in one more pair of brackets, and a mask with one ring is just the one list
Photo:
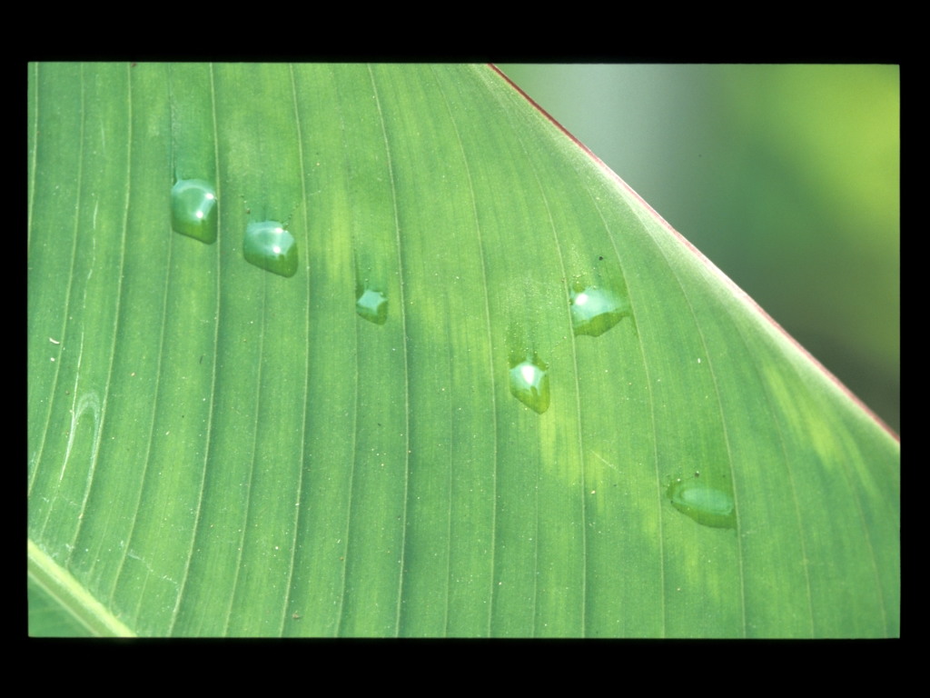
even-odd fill
[(32, 64), (29, 115), (31, 609), (899, 633), (897, 439), (494, 69)]

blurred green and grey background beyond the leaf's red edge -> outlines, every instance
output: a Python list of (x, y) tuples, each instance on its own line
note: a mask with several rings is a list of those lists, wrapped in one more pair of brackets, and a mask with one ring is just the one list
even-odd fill
[(900, 433), (897, 66), (498, 67)]

